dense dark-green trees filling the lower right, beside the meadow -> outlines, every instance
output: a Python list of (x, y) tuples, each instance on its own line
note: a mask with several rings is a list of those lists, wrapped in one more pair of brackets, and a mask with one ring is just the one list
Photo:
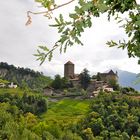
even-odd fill
[[(91, 111), (81, 122), (82, 137), (94, 139), (139, 139), (140, 100), (105, 93), (96, 97)], [(79, 131), (79, 132), (80, 132)], [(89, 131), (89, 132), (88, 132)], [(89, 135), (89, 136), (88, 136)]]

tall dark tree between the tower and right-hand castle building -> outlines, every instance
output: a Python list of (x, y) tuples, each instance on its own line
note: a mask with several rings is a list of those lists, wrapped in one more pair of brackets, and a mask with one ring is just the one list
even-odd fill
[(86, 90), (90, 83), (90, 75), (87, 69), (84, 69), (83, 72), (80, 74), (80, 84), (81, 87)]

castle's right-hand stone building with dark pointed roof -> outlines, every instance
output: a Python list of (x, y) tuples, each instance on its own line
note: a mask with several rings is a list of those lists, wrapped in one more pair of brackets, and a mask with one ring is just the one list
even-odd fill
[(118, 74), (114, 73), (113, 70), (110, 70), (108, 73), (98, 73), (100, 80), (109, 83), (111, 80), (118, 82)]

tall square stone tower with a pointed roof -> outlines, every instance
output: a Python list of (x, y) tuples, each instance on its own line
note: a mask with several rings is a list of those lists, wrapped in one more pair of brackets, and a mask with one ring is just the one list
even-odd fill
[(69, 79), (74, 78), (74, 64), (71, 61), (64, 64), (64, 77)]

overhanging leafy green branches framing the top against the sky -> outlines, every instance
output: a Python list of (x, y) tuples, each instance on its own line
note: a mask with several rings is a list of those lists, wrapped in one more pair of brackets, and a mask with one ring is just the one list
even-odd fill
[[(41, 3), (47, 10), (42, 12), (27, 12), (28, 21), (26, 25), (31, 24), (31, 14), (44, 14), (49, 19), (52, 18), (51, 14), (55, 9), (66, 6), (75, 0), (70, 0), (64, 4), (57, 5), (54, 0), (36, 0)], [(129, 18), (122, 19), (120, 14), (128, 12)], [(128, 36), (128, 40), (119, 40), (118, 42), (108, 41), (109, 47), (117, 46), (122, 49), (128, 50), (129, 57), (140, 58), (140, 5), (136, 0), (79, 0), (76, 3), (75, 10), (69, 14), (70, 19), (65, 21), (62, 14), (55, 18), (56, 23), (51, 25), (56, 27), (60, 33), (60, 39), (54, 43), (54, 46), (49, 49), (46, 46), (39, 46), (36, 56), (41, 64), (46, 58), (51, 60), (55, 49), (59, 48), (60, 53), (66, 52), (67, 46), (75, 44), (83, 45), (80, 41), (81, 33), (85, 28), (92, 26), (92, 17), (99, 17), (103, 13), (108, 13), (108, 20), (112, 16), (118, 23), (122, 23), (122, 27)], [(125, 23), (124, 23), (125, 22)], [(140, 63), (140, 60), (139, 60)]]

